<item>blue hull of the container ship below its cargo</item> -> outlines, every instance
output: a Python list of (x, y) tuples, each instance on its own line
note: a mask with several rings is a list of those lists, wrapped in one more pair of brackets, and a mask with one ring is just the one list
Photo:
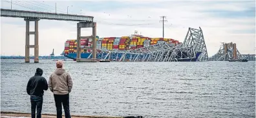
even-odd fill
[[(111, 55), (110, 57), (107, 56), (106, 59), (119, 61), (120, 58), (122, 58), (122, 54), (123, 53), (116, 53), (116, 55)], [(195, 58), (182, 58), (182, 59), (178, 58), (176, 61), (178, 61), (178, 62), (197, 62), (198, 56), (200, 56), (200, 54), (201, 54), (201, 52), (198, 52), (198, 53), (196, 53)], [(102, 56), (106, 56), (106, 55), (107, 55), (107, 53), (97, 53), (96, 58), (98, 58), (100, 60), (100, 59), (102, 59), (101, 58)], [(69, 53), (64, 56), (66, 56), (67, 58), (70, 58), (72, 60), (76, 60), (77, 53)], [(131, 58), (131, 56), (135, 56), (135, 55), (127, 54), (125, 56), (125, 58)], [(81, 58), (92, 58), (92, 55), (91, 55), (91, 53), (81, 53)]]

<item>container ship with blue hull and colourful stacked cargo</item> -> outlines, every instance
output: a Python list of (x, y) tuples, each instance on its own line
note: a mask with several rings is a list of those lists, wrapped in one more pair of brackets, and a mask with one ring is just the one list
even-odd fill
[[(179, 46), (182, 42), (178, 42), (173, 38), (150, 38), (144, 37), (143, 35), (130, 35), (126, 37), (96, 37), (96, 58), (100, 58), (107, 53), (101, 53), (101, 51), (128, 51), (139, 49), (142, 47), (147, 47), (155, 44), (160, 44), (166, 42), (173, 46)], [(81, 47), (86, 47), (86, 49), (81, 50), (81, 58), (92, 58), (92, 38), (81, 38)], [(64, 56), (72, 60), (76, 60), (78, 43), (76, 40), (67, 40), (65, 42)], [(196, 58), (193, 60), (180, 60), (180, 62), (195, 62), (200, 55), (200, 52), (196, 54)], [(118, 55), (117, 55), (118, 56)], [(111, 57), (110, 60), (113, 61), (114, 58)]]

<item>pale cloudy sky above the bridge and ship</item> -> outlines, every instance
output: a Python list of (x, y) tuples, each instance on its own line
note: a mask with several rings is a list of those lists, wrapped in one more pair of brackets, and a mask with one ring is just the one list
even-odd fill
[[(1, 0), (1, 8), (10, 7), (10, 0)], [(221, 42), (236, 43), (241, 54), (255, 54), (255, 1), (12, 1), (12, 9), (90, 15), (97, 22), (99, 37), (122, 37), (135, 30), (147, 37), (162, 37), (159, 21), (166, 16), (165, 38), (183, 42), (188, 28), (200, 27), (208, 56), (217, 53)], [(50, 55), (52, 49), (60, 55), (65, 41), (76, 39), (76, 23), (40, 20), (39, 55)], [(34, 22), (30, 30), (34, 31)], [(81, 36), (91, 34), (92, 28), (81, 30)], [(33, 35), (30, 44), (34, 44)], [(1, 17), (1, 55), (25, 55), (24, 19)]]

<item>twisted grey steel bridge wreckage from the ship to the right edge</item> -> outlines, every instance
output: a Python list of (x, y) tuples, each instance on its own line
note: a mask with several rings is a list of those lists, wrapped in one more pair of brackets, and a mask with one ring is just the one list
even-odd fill
[[(202, 29), (189, 28), (182, 44), (173, 45), (160, 42), (151, 46), (129, 49), (126, 51), (109, 51), (98, 49), (97, 60), (107, 62), (204, 62), (204, 61), (228, 61), (246, 58), (255, 60), (255, 55), (241, 55), (236, 44), (228, 43), (220, 47), (217, 54), (208, 58), (208, 51), (204, 42)], [(76, 54), (69, 54), (76, 55)], [(69, 55), (64, 55), (70, 58)], [(92, 58), (89, 53), (87, 59)], [(73, 58), (75, 60), (75, 58)]]

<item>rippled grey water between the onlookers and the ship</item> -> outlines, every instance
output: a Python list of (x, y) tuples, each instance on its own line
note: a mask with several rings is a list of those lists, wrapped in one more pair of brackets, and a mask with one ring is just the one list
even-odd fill
[[(30, 113), (28, 79), (52, 60), (1, 60), (1, 111)], [(33, 62), (33, 60), (31, 61)], [(255, 117), (255, 62), (65, 62), (74, 82), (73, 115)], [(44, 114), (56, 114), (45, 92)]]

